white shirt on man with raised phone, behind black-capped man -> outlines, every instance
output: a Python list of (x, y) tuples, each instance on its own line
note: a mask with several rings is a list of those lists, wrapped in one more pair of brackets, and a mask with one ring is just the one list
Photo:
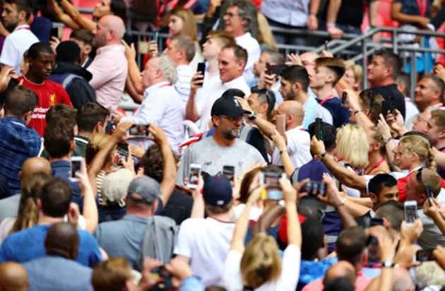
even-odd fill
[(196, 93), (198, 100), (196, 107), (201, 117), (199, 126), (201, 131), (208, 130), (208, 122), (212, 118), (210, 112), (212, 111), (213, 103), (215, 103), (215, 100), (221, 97), (226, 90), (239, 89), (246, 94), (246, 97), (250, 95), (249, 85), (247, 85), (243, 76), (224, 84), (220, 81), (219, 73), (218, 80), (216, 80), (215, 76), (210, 78), (212, 79), (208, 81), (209, 84), (206, 86), (206, 81), (204, 81), (203, 88), (199, 89)]

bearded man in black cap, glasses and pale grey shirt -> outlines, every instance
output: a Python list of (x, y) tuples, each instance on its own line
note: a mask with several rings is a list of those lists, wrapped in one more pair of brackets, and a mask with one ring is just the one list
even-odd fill
[(191, 164), (201, 165), (201, 171), (214, 176), (223, 172), (225, 165), (235, 167), (242, 174), (254, 165), (265, 162), (256, 148), (238, 138), (244, 111), (234, 97), (226, 95), (215, 101), (211, 110), (215, 134), (203, 138), (186, 149), (177, 173), (177, 185), (184, 186)]

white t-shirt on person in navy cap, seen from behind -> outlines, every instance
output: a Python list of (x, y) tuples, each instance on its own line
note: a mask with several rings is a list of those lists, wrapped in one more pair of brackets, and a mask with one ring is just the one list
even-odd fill
[(220, 285), (235, 223), (189, 218), (179, 227), (174, 254), (190, 258), (191, 271), (205, 286)]

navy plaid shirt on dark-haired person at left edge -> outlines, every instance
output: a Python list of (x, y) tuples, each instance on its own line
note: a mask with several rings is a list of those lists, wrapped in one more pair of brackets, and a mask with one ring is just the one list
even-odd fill
[(11, 193), (20, 191), (18, 172), (28, 158), (37, 157), (42, 139), (35, 129), (18, 117), (0, 119), (0, 175), (6, 177)]

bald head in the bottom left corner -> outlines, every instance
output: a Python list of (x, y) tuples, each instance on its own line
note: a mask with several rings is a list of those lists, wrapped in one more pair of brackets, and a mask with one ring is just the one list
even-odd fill
[(6, 262), (0, 265), (1, 291), (26, 291), (28, 286), (26, 270), (20, 263)]

